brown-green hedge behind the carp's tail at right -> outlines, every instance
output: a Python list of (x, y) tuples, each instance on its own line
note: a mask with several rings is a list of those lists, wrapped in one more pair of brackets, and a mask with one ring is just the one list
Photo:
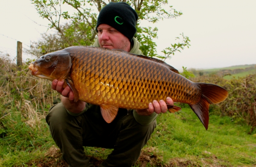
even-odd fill
[(193, 82), (207, 82), (224, 87), (229, 96), (218, 106), (221, 115), (231, 116), (234, 122), (241, 125), (247, 123), (251, 132), (256, 127), (256, 74), (230, 80), (220, 76), (200, 76), (192, 79)]

